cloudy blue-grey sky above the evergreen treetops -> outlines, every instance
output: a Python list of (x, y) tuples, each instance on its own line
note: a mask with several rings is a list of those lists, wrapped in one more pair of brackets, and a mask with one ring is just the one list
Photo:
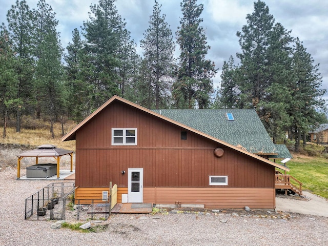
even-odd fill
[[(30, 9), (36, 8), (37, 0), (26, 0)], [(59, 20), (61, 44), (66, 48), (72, 40), (72, 31), (79, 28), (89, 17), (91, 4), (97, 0), (46, 0)], [(181, 17), (180, 0), (157, 0), (162, 5), (161, 13), (175, 32)], [(312, 55), (315, 64), (320, 64), (322, 88), (328, 89), (328, 1), (325, 0), (267, 0), (264, 1), (270, 14), (287, 30), (292, 30), (293, 37), (299, 37), (304, 47)], [(0, 23), (5, 23), (7, 11), (15, 0), (0, 0)], [(252, 0), (198, 0), (204, 5), (201, 17), (211, 46), (207, 58), (213, 60), (219, 71), (214, 78), (215, 87), (219, 85), (221, 68), (224, 60), (240, 51), (237, 31), (246, 24), (246, 15), (254, 11)], [(118, 13), (126, 20), (127, 29), (138, 44), (143, 33), (149, 27), (154, 0), (117, 0)], [(176, 52), (178, 55), (178, 52)], [(238, 62), (239, 60), (236, 59)], [(324, 96), (328, 99), (328, 93)]]

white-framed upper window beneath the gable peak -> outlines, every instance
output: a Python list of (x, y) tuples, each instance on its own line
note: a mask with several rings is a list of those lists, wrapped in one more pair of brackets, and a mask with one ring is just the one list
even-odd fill
[(112, 128), (112, 145), (137, 145), (137, 129)]

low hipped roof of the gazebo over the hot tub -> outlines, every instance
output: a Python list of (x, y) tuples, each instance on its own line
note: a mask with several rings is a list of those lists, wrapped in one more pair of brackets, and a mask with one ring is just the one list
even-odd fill
[(34, 157), (39, 157), (39, 156), (44, 156), (44, 157), (49, 157), (49, 156), (62, 156), (62, 155), (68, 155), (73, 153), (71, 150), (65, 150), (65, 149), (60, 149), (56, 148), (54, 145), (41, 145), (36, 147), (34, 150), (28, 150), (26, 152), (20, 153), (17, 156), (34, 156)]

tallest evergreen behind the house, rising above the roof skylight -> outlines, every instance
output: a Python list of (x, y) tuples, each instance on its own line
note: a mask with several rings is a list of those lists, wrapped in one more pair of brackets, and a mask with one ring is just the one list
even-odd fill
[(274, 18), (269, 13), (269, 7), (264, 2), (254, 3), (254, 12), (248, 14), (247, 25), (237, 32), (241, 52), (237, 53), (240, 59), (240, 70), (243, 74), (239, 81), (242, 91), (243, 107), (255, 108), (259, 111), (258, 103), (265, 96), (265, 89), (271, 85), (269, 71), (270, 38), (274, 26)]

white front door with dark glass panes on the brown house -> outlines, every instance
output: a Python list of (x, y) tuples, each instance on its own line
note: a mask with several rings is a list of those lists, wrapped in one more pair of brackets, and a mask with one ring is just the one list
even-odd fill
[(129, 168), (128, 202), (142, 202), (142, 185), (144, 180), (144, 169)]

